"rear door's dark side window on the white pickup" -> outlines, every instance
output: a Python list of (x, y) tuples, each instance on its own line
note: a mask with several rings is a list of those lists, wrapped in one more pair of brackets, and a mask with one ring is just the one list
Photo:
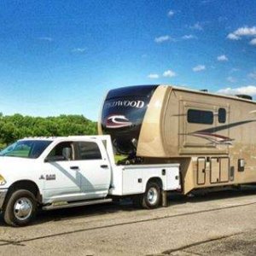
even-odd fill
[(99, 160), (102, 159), (101, 150), (96, 143), (79, 142), (78, 160)]

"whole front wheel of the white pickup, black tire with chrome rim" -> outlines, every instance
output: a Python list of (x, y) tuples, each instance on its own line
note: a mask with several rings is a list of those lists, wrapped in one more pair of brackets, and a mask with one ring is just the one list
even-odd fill
[(3, 210), (3, 219), (11, 226), (25, 226), (35, 217), (38, 203), (32, 192), (20, 189), (13, 192)]

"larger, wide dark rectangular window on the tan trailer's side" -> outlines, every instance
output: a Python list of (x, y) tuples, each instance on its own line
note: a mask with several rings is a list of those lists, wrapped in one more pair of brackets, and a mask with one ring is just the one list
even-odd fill
[(194, 124), (213, 124), (213, 113), (212, 111), (189, 109), (188, 110), (188, 122)]

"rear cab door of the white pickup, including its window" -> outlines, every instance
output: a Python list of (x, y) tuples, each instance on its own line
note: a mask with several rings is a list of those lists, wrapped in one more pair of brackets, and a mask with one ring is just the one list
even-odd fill
[(95, 142), (77, 142), (77, 166), (82, 194), (87, 198), (103, 198), (108, 195), (111, 166), (106, 150)]

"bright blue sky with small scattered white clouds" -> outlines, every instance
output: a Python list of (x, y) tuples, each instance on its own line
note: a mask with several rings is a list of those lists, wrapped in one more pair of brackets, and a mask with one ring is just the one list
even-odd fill
[(0, 112), (96, 120), (134, 84), (256, 96), (255, 14), (254, 0), (3, 0)]

